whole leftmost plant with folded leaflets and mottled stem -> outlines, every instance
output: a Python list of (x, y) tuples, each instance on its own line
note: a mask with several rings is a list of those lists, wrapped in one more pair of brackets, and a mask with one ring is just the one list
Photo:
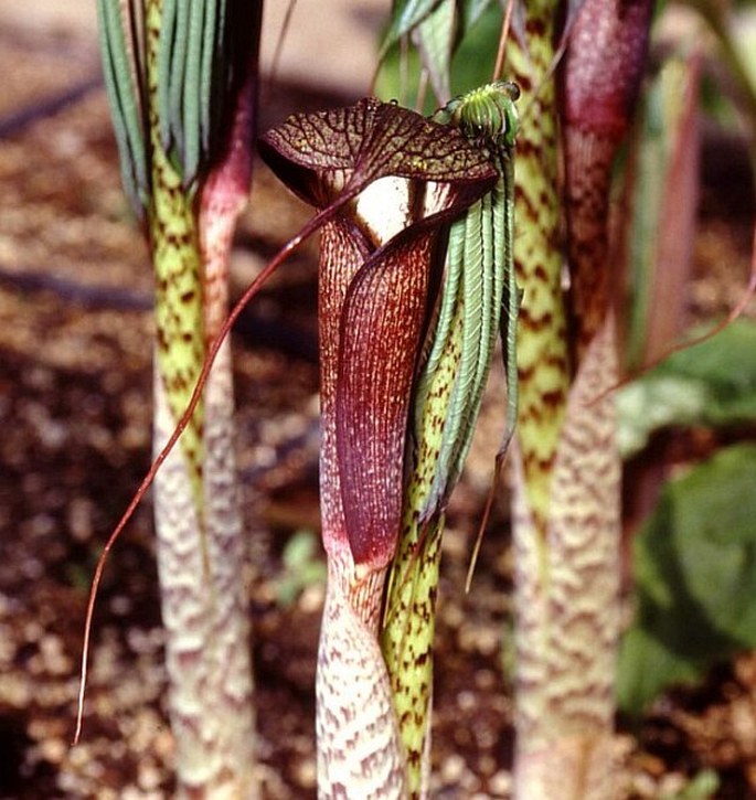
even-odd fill
[[(156, 277), (155, 449), (226, 316), (246, 203), (262, 0), (98, 0), (124, 183)], [(254, 714), (228, 346), (155, 487), (179, 793), (251, 797)]]

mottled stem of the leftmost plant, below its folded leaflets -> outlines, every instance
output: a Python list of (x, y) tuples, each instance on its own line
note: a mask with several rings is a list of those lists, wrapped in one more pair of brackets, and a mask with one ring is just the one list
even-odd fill
[[(249, 109), (239, 102), (233, 145), (203, 186), (182, 185), (160, 141), (157, 52), (161, 2), (146, 10), (151, 198), (147, 209), (156, 269), (158, 341), (155, 452), (183, 413), (205, 349), (226, 312), (227, 256), (246, 200)], [(237, 130), (237, 128), (243, 130)], [(249, 156), (246, 154), (248, 160)], [(225, 168), (225, 169), (224, 169)], [(231, 173), (231, 174), (230, 174)], [(199, 216), (199, 221), (198, 221)], [(201, 228), (201, 230), (200, 230)], [(178, 796), (257, 797), (249, 626), (226, 343), (195, 412), (155, 483), (158, 566)]]

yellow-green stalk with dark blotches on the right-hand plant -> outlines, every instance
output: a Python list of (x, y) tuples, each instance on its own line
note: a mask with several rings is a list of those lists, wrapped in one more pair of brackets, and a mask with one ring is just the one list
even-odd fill
[(569, 387), (567, 327), (562, 292), (561, 198), (556, 100), (553, 77), (554, 20), (558, 3), (528, 3), (524, 53), (514, 40), (508, 49), (510, 75), (522, 89), (518, 137), (514, 263), (523, 292), (518, 364), (518, 441), (539, 546), (550, 509), (552, 465)]

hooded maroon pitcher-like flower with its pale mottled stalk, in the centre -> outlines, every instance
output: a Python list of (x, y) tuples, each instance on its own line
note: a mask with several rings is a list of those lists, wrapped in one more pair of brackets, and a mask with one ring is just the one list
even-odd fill
[[(412, 386), (436, 305), (446, 225), (490, 196), (498, 174), (455, 126), (374, 99), (291, 117), (266, 134), (262, 153), (316, 207), (343, 206), (322, 230), (318, 288), (328, 555), (317, 674), (319, 792), (404, 797), (406, 750), (379, 632), (407, 514)], [(370, 185), (343, 204), (344, 192), (368, 178)]]

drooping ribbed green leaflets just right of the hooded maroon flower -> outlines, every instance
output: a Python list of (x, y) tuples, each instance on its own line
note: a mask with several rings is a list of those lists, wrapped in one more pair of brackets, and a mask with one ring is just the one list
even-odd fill
[[(519, 88), (499, 81), (451, 100), (436, 116), (459, 126), (465, 136), (486, 148), (499, 173), (493, 191), (473, 205), (449, 233), (447, 269), (461, 275), (454, 305), (464, 308), (462, 343), (456, 376), (440, 436), (433, 486), (420, 519), (427, 520), (446, 504), (461, 473), (470, 448), (475, 420), (488, 378), (496, 335), (501, 333), (507, 369), (507, 449), (517, 419), (517, 318), (520, 294), (514, 280), (512, 253), (514, 164), (513, 148), (518, 129), (514, 100)], [(456, 263), (456, 259), (460, 259)], [(444, 289), (444, 305), (450, 305)], [(502, 316), (502, 309), (505, 313)], [(443, 309), (444, 311), (444, 309)], [(439, 330), (430, 356), (420, 375), (416, 402), (416, 427), (423, 430), (423, 414), (433, 372), (447, 350), (448, 330)]]

